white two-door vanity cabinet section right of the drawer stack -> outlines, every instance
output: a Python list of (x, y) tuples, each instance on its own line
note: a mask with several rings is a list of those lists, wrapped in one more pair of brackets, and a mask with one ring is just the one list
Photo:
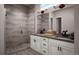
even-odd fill
[(49, 54), (50, 55), (73, 55), (74, 44), (55, 39), (49, 39)]

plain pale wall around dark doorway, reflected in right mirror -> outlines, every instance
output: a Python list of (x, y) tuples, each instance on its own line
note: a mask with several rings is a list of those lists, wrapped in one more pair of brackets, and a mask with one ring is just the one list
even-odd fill
[(53, 17), (53, 30), (57, 31), (57, 21), (56, 18), (62, 18), (62, 31), (68, 30), (69, 33), (74, 32), (74, 8), (65, 8), (61, 10), (57, 10), (52, 13)]

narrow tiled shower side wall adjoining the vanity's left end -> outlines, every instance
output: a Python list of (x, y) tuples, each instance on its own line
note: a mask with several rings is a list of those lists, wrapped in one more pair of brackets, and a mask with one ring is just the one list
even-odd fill
[[(28, 39), (30, 39), (30, 34), (35, 33), (35, 13), (34, 7), (29, 10), (28, 15)], [(30, 40), (28, 40), (30, 42)]]

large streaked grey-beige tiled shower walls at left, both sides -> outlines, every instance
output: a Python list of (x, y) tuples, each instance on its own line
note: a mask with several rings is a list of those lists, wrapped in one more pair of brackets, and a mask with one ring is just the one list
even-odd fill
[(34, 32), (34, 12), (21, 5), (6, 5), (5, 40), (7, 47), (15, 47), (29, 42), (29, 34)]

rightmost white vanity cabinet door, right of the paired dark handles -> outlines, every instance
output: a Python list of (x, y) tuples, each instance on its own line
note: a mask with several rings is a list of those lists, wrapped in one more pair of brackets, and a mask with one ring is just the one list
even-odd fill
[(59, 41), (61, 47), (60, 51), (62, 55), (73, 55), (74, 54), (74, 44), (64, 41)]

